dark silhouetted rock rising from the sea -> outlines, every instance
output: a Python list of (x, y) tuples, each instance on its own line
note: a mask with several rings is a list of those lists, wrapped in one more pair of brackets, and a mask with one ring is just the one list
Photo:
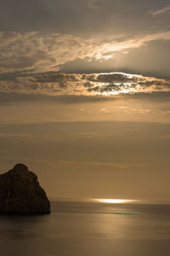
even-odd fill
[(50, 212), (50, 203), (45, 191), (37, 181), (37, 175), (27, 166), (17, 164), (0, 175), (0, 213)]

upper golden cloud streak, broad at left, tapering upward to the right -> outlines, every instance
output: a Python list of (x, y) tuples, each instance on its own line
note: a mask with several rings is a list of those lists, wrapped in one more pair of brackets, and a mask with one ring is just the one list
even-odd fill
[(45, 73), (76, 59), (105, 61), (116, 52), (136, 49), (156, 40), (170, 40), (170, 32), (99, 42), (70, 34), (0, 32), (0, 73)]

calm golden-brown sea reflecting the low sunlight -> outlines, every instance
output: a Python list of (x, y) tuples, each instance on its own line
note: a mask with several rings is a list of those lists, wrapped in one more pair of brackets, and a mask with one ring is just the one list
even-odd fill
[(51, 209), (0, 216), (0, 256), (170, 255), (170, 201), (53, 199)]

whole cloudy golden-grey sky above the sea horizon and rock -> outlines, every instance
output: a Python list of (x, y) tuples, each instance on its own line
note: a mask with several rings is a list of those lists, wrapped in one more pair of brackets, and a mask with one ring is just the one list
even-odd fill
[(170, 199), (170, 3), (0, 0), (0, 172), (50, 198)]

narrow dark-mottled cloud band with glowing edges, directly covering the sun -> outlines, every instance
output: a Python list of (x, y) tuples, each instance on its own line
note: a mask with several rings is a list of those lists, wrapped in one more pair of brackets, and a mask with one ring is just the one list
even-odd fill
[(170, 92), (169, 79), (129, 73), (56, 73), (18, 76), (0, 81), (5, 94), (42, 96), (115, 96)]

